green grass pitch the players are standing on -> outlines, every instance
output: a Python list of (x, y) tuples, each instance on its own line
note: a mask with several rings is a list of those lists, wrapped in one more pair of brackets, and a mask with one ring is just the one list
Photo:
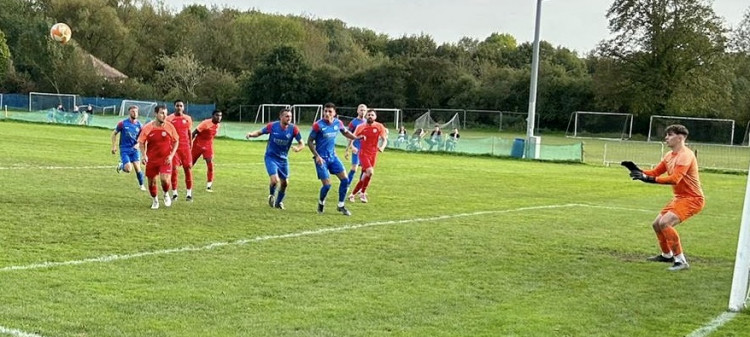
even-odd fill
[(199, 161), (151, 210), (110, 132), (0, 122), (0, 336), (686, 336), (727, 307), (742, 175), (702, 173), (674, 273), (645, 261), (671, 189), (620, 167), (386, 151), (345, 217), (307, 149), (280, 211), (265, 143), (221, 139), (215, 192)]

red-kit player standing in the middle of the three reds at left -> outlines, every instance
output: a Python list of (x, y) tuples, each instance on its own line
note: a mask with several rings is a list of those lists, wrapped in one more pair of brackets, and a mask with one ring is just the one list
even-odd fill
[(185, 200), (193, 201), (193, 158), (190, 150), (190, 129), (193, 128), (193, 119), (185, 112), (185, 103), (182, 100), (174, 101), (174, 113), (167, 116), (177, 134), (180, 135), (180, 146), (172, 163), (172, 201), (177, 200), (177, 166), (182, 165), (185, 171)]

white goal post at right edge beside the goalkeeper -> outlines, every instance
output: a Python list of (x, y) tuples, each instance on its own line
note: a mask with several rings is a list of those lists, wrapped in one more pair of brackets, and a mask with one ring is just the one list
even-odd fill
[(745, 184), (745, 203), (742, 207), (740, 233), (737, 239), (737, 257), (734, 260), (732, 290), (729, 293), (730, 311), (741, 311), (747, 307), (750, 293), (748, 276), (750, 276), (750, 174), (748, 174)]

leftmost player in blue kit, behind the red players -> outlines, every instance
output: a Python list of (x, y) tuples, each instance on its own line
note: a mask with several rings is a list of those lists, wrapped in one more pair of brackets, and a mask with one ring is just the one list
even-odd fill
[(130, 172), (135, 168), (135, 175), (138, 179), (138, 185), (141, 191), (145, 191), (143, 186), (143, 171), (141, 171), (141, 154), (138, 152), (138, 135), (143, 128), (138, 120), (138, 107), (131, 105), (128, 107), (130, 117), (117, 123), (115, 131), (112, 132), (112, 154), (117, 153), (117, 134), (120, 134), (120, 163), (117, 164), (117, 173), (120, 171)]

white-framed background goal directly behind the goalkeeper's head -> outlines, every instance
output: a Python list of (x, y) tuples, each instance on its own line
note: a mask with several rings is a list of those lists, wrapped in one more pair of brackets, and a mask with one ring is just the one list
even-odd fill
[(672, 124), (682, 124), (690, 135), (689, 141), (708, 144), (734, 144), (734, 120), (679, 116), (651, 116), (648, 127), (650, 141), (664, 139), (664, 129)]

